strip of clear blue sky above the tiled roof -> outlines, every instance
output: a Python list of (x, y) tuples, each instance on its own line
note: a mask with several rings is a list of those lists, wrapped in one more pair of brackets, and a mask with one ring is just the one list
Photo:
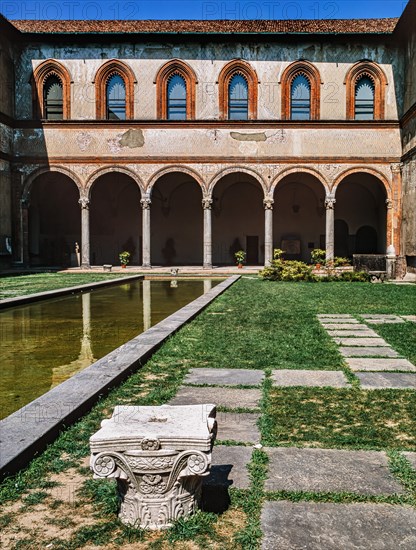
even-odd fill
[(399, 17), (405, 0), (0, 0), (9, 19), (343, 19)]

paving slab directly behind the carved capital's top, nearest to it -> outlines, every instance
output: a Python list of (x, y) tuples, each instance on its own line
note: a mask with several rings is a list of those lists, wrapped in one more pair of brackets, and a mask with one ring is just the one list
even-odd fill
[[(416, 369), (415, 369), (416, 370)], [(255, 409), (259, 406), (261, 399), (260, 390), (240, 390), (236, 388), (195, 388), (182, 386), (179, 388), (176, 397), (169, 405), (196, 405), (198, 403), (215, 403), (219, 407), (229, 409)]]

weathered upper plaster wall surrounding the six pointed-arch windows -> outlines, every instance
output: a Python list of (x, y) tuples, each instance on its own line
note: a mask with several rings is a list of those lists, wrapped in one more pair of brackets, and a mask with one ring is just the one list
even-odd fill
[[(364, 37), (363, 37), (364, 41)], [(169, 59), (179, 58), (195, 70), (198, 78), (196, 117), (218, 118), (218, 76), (224, 65), (235, 58), (249, 62), (259, 79), (258, 119), (280, 118), (280, 78), (293, 61), (306, 59), (315, 64), (321, 74), (321, 115), (323, 120), (345, 119), (345, 76), (359, 60), (371, 59), (378, 63), (387, 76), (386, 119), (397, 118), (397, 90), (401, 90), (398, 49), (365, 43), (317, 43), (305, 38), (298, 44), (279, 43), (224, 43), (224, 44), (113, 44), (51, 46), (28, 45), (16, 68), (16, 105), (18, 118), (32, 117), (30, 76), (33, 69), (45, 59), (54, 58), (63, 63), (72, 77), (72, 118), (95, 118), (94, 78), (99, 67), (108, 59), (127, 63), (136, 77), (135, 118), (156, 118), (156, 86), (154, 80), (159, 68)]]

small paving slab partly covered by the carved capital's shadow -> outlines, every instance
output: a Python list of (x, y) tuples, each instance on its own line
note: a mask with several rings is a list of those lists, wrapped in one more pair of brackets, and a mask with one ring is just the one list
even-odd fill
[(204, 477), (203, 484), (248, 489), (250, 478), (247, 465), (252, 453), (251, 447), (215, 445), (212, 450), (211, 472)]

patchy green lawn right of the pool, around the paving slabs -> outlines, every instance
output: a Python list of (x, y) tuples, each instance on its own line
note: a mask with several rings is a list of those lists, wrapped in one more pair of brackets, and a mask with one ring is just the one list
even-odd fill
[[(72, 274), (69, 277), (74, 281)], [(91, 276), (87, 277), (91, 281)], [(22, 293), (27, 293), (27, 289)], [(23, 506), (30, 505), (32, 513), (36, 512), (37, 504), (29, 504), (27, 499), (30, 502), (33, 498), (40, 499), (39, 505), (47, 506), (48, 516), (55, 518), (56, 526), (70, 530), (67, 538), (49, 539), (42, 530), (34, 531), (29, 538), (24, 532), (22, 537), (25, 538), (16, 540), (13, 547), (44, 548), (52, 544), (53, 548), (72, 550), (98, 545), (118, 548), (130, 543), (137, 548), (153, 550), (254, 550), (259, 547), (261, 538), (260, 512), (265, 498), (329, 502), (366, 498), (347, 493), (278, 492), (266, 495), (267, 454), (255, 450), (250, 464), (250, 489), (231, 489), (231, 505), (226, 512), (217, 515), (199, 512), (157, 535), (121, 525), (116, 516), (114, 482), (92, 480), (82, 462), (89, 454), (89, 437), (99, 429), (101, 420), (111, 415), (116, 404), (167, 403), (175, 396), (189, 369), (195, 367), (263, 369), (266, 374), (260, 404), (263, 444), (385, 450), (389, 454), (391, 471), (407, 492), (403, 496), (369, 497), (365, 501), (415, 506), (412, 495), (416, 474), (401, 451), (416, 450), (416, 392), (361, 390), (339, 354), (338, 346), (316, 319), (318, 313), (413, 314), (415, 309), (416, 293), (412, 286), (268, 283), (241, 279), (170, 338), (139, 372), (100, 399), (89, 414), (65, 430), (26, 470), (0, 485), (0, 503), (5, 505), (0, 523), (6, 525), (8, 533), (16, 529), (19, 519), (18, 514), (9, 515), (8, 503), (19, 501)], [(377, 325), (374, 328), (401, 354), (414, 361), (416, 325)], [(278, 389), (271, 383), (274, 369), (341, 370), (354, 385), (340, 389)], [(48, 493), (48, 487), (53, 487), (51, 476), (65, 476), (70, 469), (75, 469), (83, 480), (76, 505), (69, 508), (63, 501), (43, 498), (42, 493)], [(65, 516), (70, 517), (76, 527), (71, 528)], [(77, 518), (84, 517), (90, 524), (79, 525)]]

